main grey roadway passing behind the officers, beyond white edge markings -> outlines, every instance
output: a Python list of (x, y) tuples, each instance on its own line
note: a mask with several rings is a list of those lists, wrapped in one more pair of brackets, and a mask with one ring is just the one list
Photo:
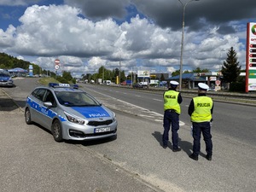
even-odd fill
[[(132, 89), (120, 89), (114, 86), (96, 86), (93, 84), (80, 84), (84, 90), (90, 92), (91, 95), (98, 96), (101, 100), (107, 98), (115, 98), (122, 102), (127, 102), (126, 109), (130, 108), (130, 113), (135, 113), (141, 108), (140, 113), (148, 118), (156, 119), (161, 122), (163, 119), (163, 91), (159, 93), (148, 93)], [(191, 98), (183, 96), (181, 104), (182, 113), (180, 120), (181, 127), (190, 126), (190, 118), (188, 108)], [(214, 101), (214, 100), (213, 100)], [(125, 103), (124, 103), (125, 104)], [(110, 106), (109, 106), (110, 107)], [(113, 108), (114, 106), (112, 106)], [(115, 107), (119, 109), (119, 106)], [(123, 109), (123, 108), (122, 108)], [(148, 113), (146, 113), (148, 110)], [(212, 132), (222, 137), (234, 137), (242, 143), (256, 146), (256, 106), (246, 104), (226, 103), (214, 101), (213, 110), (213, 127)], [(158, 118), (156, 118), (156, 116)]]

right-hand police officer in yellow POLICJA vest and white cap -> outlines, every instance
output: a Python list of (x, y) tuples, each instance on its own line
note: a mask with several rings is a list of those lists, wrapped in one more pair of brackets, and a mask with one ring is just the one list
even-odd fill
[(207, 84), (198, 84), (198, 96), (195, 96), (189, 104), (189, 116), (193, 126), (193, 154), (189, 157), (193, 160), (198, 160), (200, 153), (201, 132), (206, 143), (207, 160), (212, 160), (212, 135), (211, 122), (213, 112), (212, 98), (207, 96)]

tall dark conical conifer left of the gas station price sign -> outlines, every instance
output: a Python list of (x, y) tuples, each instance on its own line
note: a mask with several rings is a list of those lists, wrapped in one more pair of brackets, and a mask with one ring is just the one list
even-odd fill
[(223, 79), (227, 83), (237, 82), (237, 79), (241, 73), (241, 66), (239, 66), (239, 61), (237, 61), (236, 51), (231, 47), (227, 53), (227, 59), (223, 63), (221, 69), (223, 74)]

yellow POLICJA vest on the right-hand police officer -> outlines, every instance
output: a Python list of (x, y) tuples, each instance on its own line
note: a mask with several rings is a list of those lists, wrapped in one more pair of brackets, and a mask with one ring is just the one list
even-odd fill
[(191, 114), (192, 122), (206, 122), (212, 119), (212, 98), (208, 96), (196, 96), (193, 98), (195, 110)]

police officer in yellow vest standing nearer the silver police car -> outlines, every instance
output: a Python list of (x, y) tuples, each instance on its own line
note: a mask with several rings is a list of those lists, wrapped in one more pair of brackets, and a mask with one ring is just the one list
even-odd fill
[(177, 81), (171, 81), (169, 90), (164, 93), (164, 134), (163, 134), (163, 148), (167, 148), (169, 141), (169, 131), (172, 125), (172, 151), (177, 152), (181, 149), (178, 148), (178, 134), (179, 129), (179, 114), (181, 113), (180, 103), (183, 102), (183, 98), (179, 92), (177, 92)]

